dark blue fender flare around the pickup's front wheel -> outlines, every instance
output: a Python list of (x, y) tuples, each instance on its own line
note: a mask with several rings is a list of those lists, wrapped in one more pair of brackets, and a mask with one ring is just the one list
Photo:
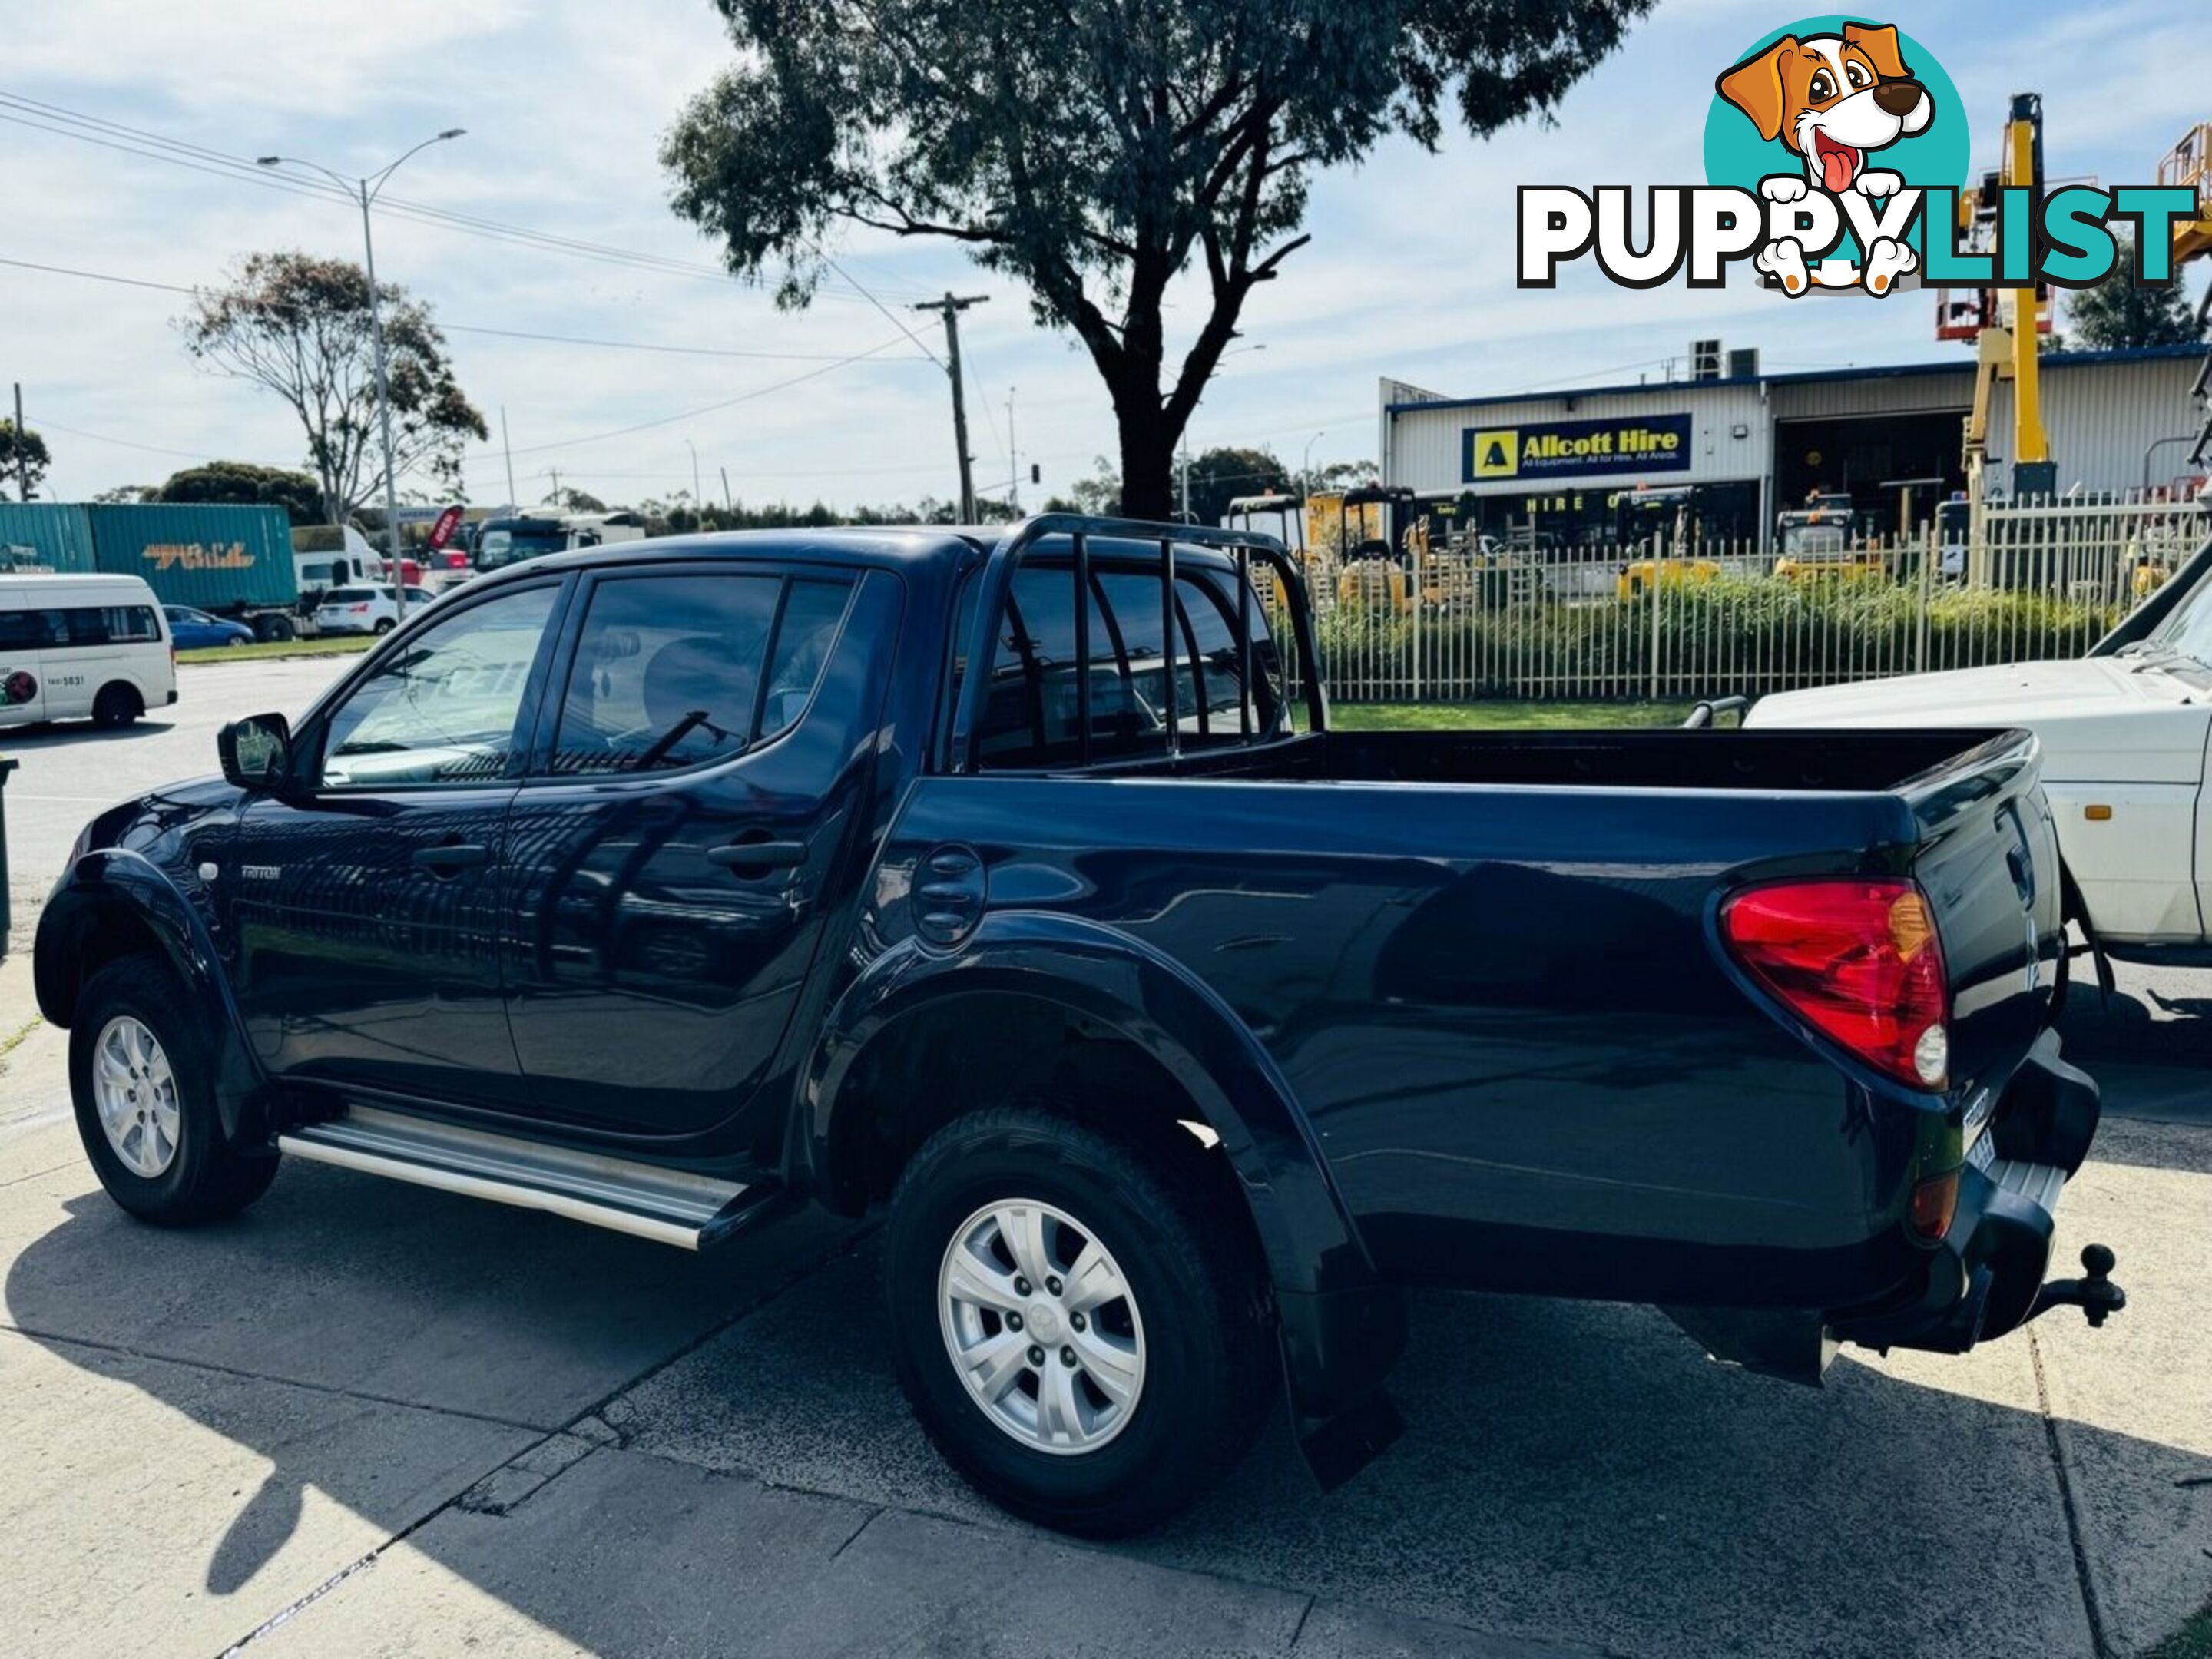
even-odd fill
[(215, 953), (206, 920), (168, 874), (142, 854), (106, 847), (82, 856), (38, 918), (33, 991), (49, 1024), (75, 1018), (77, 958), (106, 916), (126, 914), (161, 949), (184, 987), (186, 1004), (215, 1037), (215, 1104), (226, 1139), (252, 1144), (268, 1135), (268, 1075), (246, 1035), (246, 1020)]

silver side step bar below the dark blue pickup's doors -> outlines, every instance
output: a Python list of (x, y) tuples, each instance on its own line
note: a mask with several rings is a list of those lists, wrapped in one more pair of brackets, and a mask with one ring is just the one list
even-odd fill
[(681, 1250), (721, 1243), (781, 1197), (774, 1186), (748, 1188), (380, 1106), (354, 1106), (345, 1117), (303, 1124), (279, 1135), (276, 1148), (312, 1164), (544, 1210)]

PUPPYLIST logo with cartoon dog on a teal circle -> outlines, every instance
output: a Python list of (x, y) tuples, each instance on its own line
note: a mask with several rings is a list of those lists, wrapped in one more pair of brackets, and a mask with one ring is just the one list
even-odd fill
[(2172, 281), (2185, 188), (2075, 184), (2037, 192), (1960, 190), (1971, 139), (1942, 64), (1893, 24), (1801, 18), (1754, 42), (1712, 82), (1703, 186), (1646, 186), (1637, 246), (1626, 184), (1522, 186), (1520, 288), (1555, 288), (1559, 265), (1595, 259), (1619, 288), (1677, 274), (1721, 288), (1750, 263), (1790, 299), (1814, 290), (1896, 292), (1913, 272), (1953, 288), (2090, 288), (2121, 263)]

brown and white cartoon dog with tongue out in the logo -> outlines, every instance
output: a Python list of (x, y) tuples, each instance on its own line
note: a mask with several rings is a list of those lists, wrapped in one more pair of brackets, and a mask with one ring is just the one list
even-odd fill
[[(1889, 24), (1847, 22), (1840, 35), (1783, 35), (1714, 82), (1763, 139), (1781, 139), (1805, 157), (1805, 173), (1776, 173), (1759, 181), (1767, 201), (1798, 201), (1807, 188), (1829, 195), (1858, 190), (1887, 197), (1905, 179), (1867, 166), (1867, 153), (1927, 131), (1936, 100), (1913, 80)], [(1807, 288), (1805, 250), (1790, 239), (1761, 248), (1754, 261), (1792, 294)], [(1885, 294), (1898, 274), (1918, 265), (1905, 243), (1882, 237), (1867, 250), (1865, 285)]]

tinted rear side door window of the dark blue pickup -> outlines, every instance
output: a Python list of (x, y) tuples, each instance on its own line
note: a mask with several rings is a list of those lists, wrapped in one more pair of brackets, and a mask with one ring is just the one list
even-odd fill
[(703, 765), (774, 737), (814, 695), (849, 591), (737, 573), (599, 582), (553, 772)]

